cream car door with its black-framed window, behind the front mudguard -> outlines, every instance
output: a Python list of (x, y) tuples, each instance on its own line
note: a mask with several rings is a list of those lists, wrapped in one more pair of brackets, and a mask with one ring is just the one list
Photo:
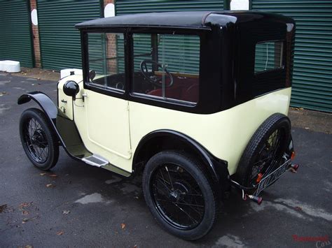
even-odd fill
[(114, 154), (124, 159), (131, 156), (123, 51), (123, 34), (88, 34), (91, 76), (90, 82), (85, 82), (85, 133), (94, 149), (91, 152), (110, 162)]

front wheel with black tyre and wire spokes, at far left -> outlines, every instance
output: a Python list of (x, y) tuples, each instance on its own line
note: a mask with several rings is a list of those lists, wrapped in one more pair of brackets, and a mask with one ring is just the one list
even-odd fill
[(25, 110), (20, 117), (20, 138), (27, 157), (34, 166), (49, 170), (59, 158), (59, 145), (43, 111)]

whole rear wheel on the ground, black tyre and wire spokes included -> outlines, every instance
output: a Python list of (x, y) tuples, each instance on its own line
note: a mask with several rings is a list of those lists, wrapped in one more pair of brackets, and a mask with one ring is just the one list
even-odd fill
[(216, 198), (198, 163), (185, 154), (160, 152), (144, 168), (146, 204), (158, 223), (173, 235), (197, 240), (216, 218)]

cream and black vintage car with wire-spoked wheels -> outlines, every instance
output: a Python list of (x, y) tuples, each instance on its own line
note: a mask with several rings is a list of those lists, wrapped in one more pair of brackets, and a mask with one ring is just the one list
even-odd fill
[(295, 172), (291, 98), (295, 23), (249, 11), (146, 13), (76, 24), (83, 75), (42, 92), (20, 118), (29, 160), (57, 163), (59, 146), (91, 166), (142, 173), (146, 203), (186, 240), (212, 228), (230, 189), (261, 191)]

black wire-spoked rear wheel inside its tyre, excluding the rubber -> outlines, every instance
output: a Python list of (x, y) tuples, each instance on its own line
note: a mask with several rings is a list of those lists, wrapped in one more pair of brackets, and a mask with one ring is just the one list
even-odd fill
[(187, 170), (176, 164), (164, 164), (153, 173), (151, 185), (155, 206), (165, 221), (187, 230), (200, 224), (205, 200)]

